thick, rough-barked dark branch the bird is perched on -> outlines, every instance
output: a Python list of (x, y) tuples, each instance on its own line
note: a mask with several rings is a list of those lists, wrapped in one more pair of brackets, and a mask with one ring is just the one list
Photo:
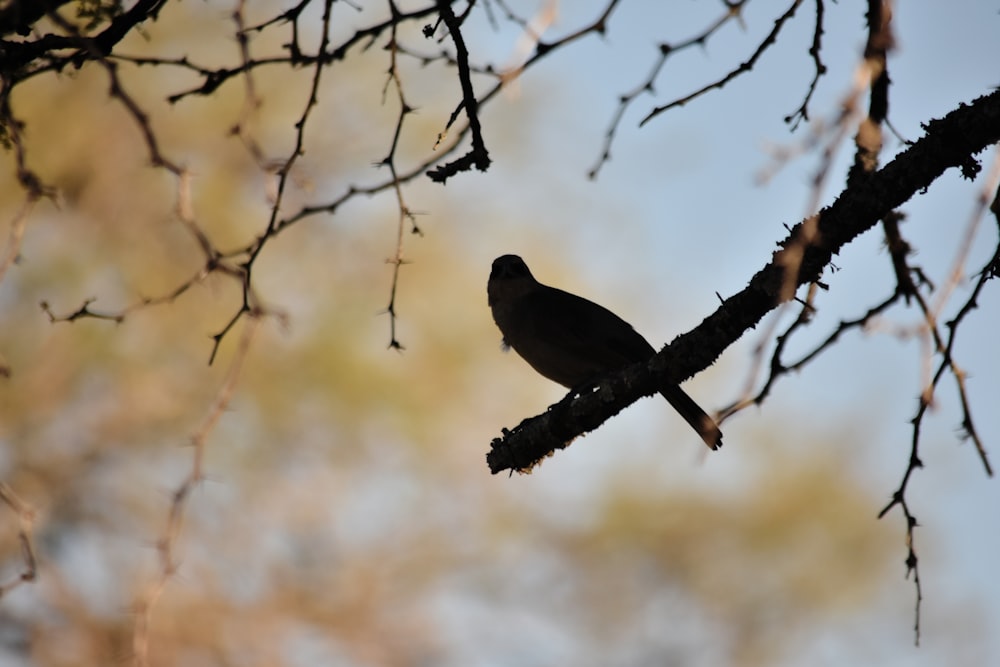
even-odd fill
[[(805, 249), (795, 284), (817, 280), (847, 243), (870, 230), (883, 216), (928, 188), (947, 169), (958, 167), (968, 178), (979, 170), (971, 156), (1000, 141), (1000, 91), (963, 104), (946, 117), (931, 121), (924, 137), (884, 168), (841, 193), (817, 214), (819, 233)], [(792, 295), (786, 279), (785, 253), (800, 243), (804, 222), (779, 245), (771, 261), (741, 292), (729, 297), (700, 325), (678, 336), (648, 365), (638, 364), (599, 383), (576, 398), (568, 395), (545, 413), (526, 419), (492, 442), (487, 463), (492, 473), (530, 470), (542, 458), (564, 448), (579, 435), (603, 424), (661, 381), (678, 382), (711, 365), (722, 352), (754, 327), (782, 299)]]

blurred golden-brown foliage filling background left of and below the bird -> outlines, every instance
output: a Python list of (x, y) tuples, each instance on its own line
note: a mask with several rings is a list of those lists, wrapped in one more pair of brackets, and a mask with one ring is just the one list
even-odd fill
[[(80, 7), (95, 20), (121, 9)], [(171, 3), (149, 32), (158, 47), (210, 59), (235, 48), (214, 38), (220, 14)], [(123, 51), (153, 42), (133, 36)], [(392, 116), (379, 67), (361, 59), (326, 82), (322, 96), (345, 103), (324, 107), (289, 207), (384, 154), (385, 133), (371, 129)], [(228, 132), (239, 88), (169, 106), (163, 91), (183, 77), (122, 76), (196, 173), (198, 224), (223, 248), (259, 233), (268, 177)], [(266, 154), (289, 149), (307, 83), (302, 72), (259, 72), (254, 133)], [(172, 184), (148, 166), (98, 68), (38, 78), (13, 102), (30, 118), (32, 167), (62, 200), (39, 204), (0, 289), (13, 373), (0, 381), (0, 475), (38, 512), (41, 571), (0, 606), (0, 655), (120, 664), (169, 493), (190, 465), (185, 445), (235, 345), (207, 366), (238, 286), (213, 276), (120, 324), (49, 322), (41, 301), (68, 313), (96, 297), (95, 310), (117, 312), (168, 292), (200, 260)], [(420, 121), (425, 138), (434, 118)], [(3, 169), (0, 200), (16, 201), (10, 155)], [(479, 202), (434, 197), (425, 201), (442, 217), (491, 221)], [(152, 614), (153, 664), (769, 665), (884, 595), (894, 536), (845, 461), (771, 456), (726, 492), (619, 467), (583, 507), (542, 488), (574, 484), (553, 476), (556, 461), (532, 477), (488, 478), (489, 438), (542, 399), (493, 379), (513, 363), (497, 353), (484, 268), (459, 233), (434, 234), (419, 268), (404, 267), (410, 349), (385, 349), (393, 215), (384, 201), (356, 204), (299, 224), (262, 257), (257, 288), (289, 324), (266, 321), (211, 435), (180, 572)], [(0, 522), (4, 573), (19, 553), (13, 522)]]

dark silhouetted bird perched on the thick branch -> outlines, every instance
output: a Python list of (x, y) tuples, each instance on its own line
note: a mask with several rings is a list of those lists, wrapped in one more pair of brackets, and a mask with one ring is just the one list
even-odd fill
[[(486, 293), (504, 348), (513, 348), (538, 373), (567, 389), (584, 388), (656, 353), (607, 308), (535, 280), (517, 255), (493, 260)], [(722, 446), (718, 425), (679, 385), (659, 389), (710, 449)]]

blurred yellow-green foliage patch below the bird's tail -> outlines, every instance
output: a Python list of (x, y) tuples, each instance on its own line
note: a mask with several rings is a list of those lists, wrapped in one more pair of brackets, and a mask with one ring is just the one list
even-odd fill
[(717, 626), (731, 664), (763, 665), (813, 624), (878, 598), (898, 554), (857, 472), (829, 455), (749, 446), (761, 460), (717, 492), (619, 475), (595, 521), (566, 535), (566, 548), (604, 573), (586, 589), (598, 625), (663, 597), (675, 613), (691, 606)]

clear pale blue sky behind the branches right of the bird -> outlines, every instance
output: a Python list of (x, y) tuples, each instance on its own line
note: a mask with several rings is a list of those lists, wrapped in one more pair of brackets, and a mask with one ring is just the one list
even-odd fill
[[(915, 139), (921, 136), (920, 123), (1000, 83), (995, 67), (1000, 56), (995, 40), (1000, 9), (990, 2), (962, 3), (960, 10), (938, 2), (897, 4), (897, 48), (889, 62), (890, 120), (903, 137)], [(509, 181), (518, 193), (514, 202), (501, 207), (519, 218), (525, 231), (523, 237), (508, 229), (477, 231), (469, 241), (484, 276), (493, 256), (519, 253), (543, 282), (614, 304), (654, 344), (696, 325), (714, 311), (716, 292), (726, 297), (738, 291), (769, 260), (774, 243), (785, 235), (783, 225), (812, 212), (810, 179), (819, 168), (817, 154), (808, 152), (786, 164), (767, 183), (758, 179), (773, 164), (772, 149), (795, 147), (810, 132), (803, 125), (789, 133), (782, 118), (800, 104), (811, 77), (806, 55), (811, 3), (799, 9), (787, 34), (753, 72), (723, 91), (713, 91), (637, 127), (653, 106), (699, 88), (748, 57), (770, 29), (776, 11), (775, 3), (755, 3), (746, 12), (745, 30), (730, 24), (704, 48), (691, 49), (669, 62), (655, 82), (655, 96), (640, 96), (626, 113), (610, 162), (595, 181), (587, 179), (618, 96), (644, 81), (656, 58), (656, 44), (690, 36), (694, 26), (705, 25), (720, 11), (718, 3), (683, 5), (690, 20), (668, 20), (667, 11), (675, 16), (676, 3), (669, 3), (669, 10), (664, 4), (660, 19), (653, 18), (656, 10), (649, 5), (624, 3), (609, 22), (603, 40), (588, 37), (585, 47), (554, 56), (552, 62), (524, 75), (517, 93), (484, 112), (487, 127), (493, 120), (518, 125), (519, 113), (540, 106), (542, 110), (536, 113), (543, 118), (525, 120), (522, 130), (524, 142), (539, 157), (517, 160), (515, 173), (505, 165), (505, 157), (518, 149), (491, 145), (487, 134), (496, 161), (492, 175)], [(824, 5), (823, 58), (829, 72), (810, 105), (814, 123), (834, 118), (839, 102), (851, 90), (863, 48), (863, 10), (857, 3)], [(558, 21), (549, 34), (571, 31), (594, 14), (593, 3), (561, 3)], [(495, 49), (491, 55), (503, 62), (510, 44), (501, 40), (490, 46)], [(609, 85), (609, 81), (614, 83)], [(900, 149), (900, 143), (889, 137), (883, 163)], [(820, 196), (822, 204), (832, 201), (842, 188), (851, 157), (848, 137), (838, 148)], [(996, 151), (981, 158), (984, 173), (996, 168)], [(949, 173), (903, 207), (908, 216), (904, 234), (918, 248), (915, 261), (939, 284), (947, 280), (983, 182), (980, 178), (970, 184)], [(544, 186), (538, 187), (539, 183)], [(553, 241), (539, 243), (539, 229)], [(990, 256), (995, 243), (995, 223), (983, 219), (964, 264), (965, 280), (946, 313), (964, 302), (972, 274)], [(413, 252), (419, 254), (419, 248)], [(792, 358), (827, 335), (839, 320), (860, 316), (892, 289), (887, 255), (877, 234), (853, 243), (836, 264), (841, 270), (824, 277), (830, 290), (820, 295), (815, 323), (800, 342), (790, 346)], [(1000, 412), (994, 406), (1000, 403), (996, 382), (1000, 355), (995, 353), (992, 323), (1000, 301), (989, 292), (987, 288), (973, 321), (962, 332), (956, 357), (970, 371), (974, 418), (996, 465)], [(782, 321), (788, 321), (787, 314)], [(851, 455), (858, 458), (856, 465), (888, 499), (905, 469), (908, 421), (917, 408), (922, 373), (919, 342), (912, 337), (900, 339), (897, 332), (912, 330), (918, 321), (912, 310), (896, 309), (878, 322), (875, 331), (848, 334), (816, 363), (784, 378), (763, 409), (727, 422), (723, 429), (727, 448), (740, 448), (741, 438), (773, 425), (771, 419), (788, 419), (789, 415), (804, 423), (803, 439), (850, 431), (867, 441), (851, 448)], [(748, 332), (715, 367), (688, 385), (690, 391), (713, 408), (734, 399), (750, 370), (753, 346), (767, 328), (765, 323)], [(559, 396), (560, 390), (553, 387), (552, 400)], [(910, 489), (921, 522), (917, 540), (923, 556), (924, 648), (910, 650), (911, 610), (905, 604), (894, 607), (881, 615), (885, 641), (904, 646), (898, 654), (885, 653), (884, 664), (938, 664), (944, 647), (954, 647), (954, 637), (942, 636), (946, 610), (952, 605), (979, 610), (981, 627), (1000, 624), (1000, 577), (996, 576), (1000, 487), (995, 479), (986, 478), (971, 446), (956, 436), (960, 413), (953, 382), (941, 383), (939, 402), (925, 422), (922, 456), (926, 467), (915, 473)], [(571, 470), (574, 479), (598, 474), (594, 471), (601, 469), (598, 462), (604, 460), (599, 443), (615, 441), (622, 429), (646, 433), (656, 429), (662, 423), (657, 407), (636, 406), (633, 410), (641, 416), (630, 416), (627, 426), (606, 424), (603, 432), (587, 437), (581, 452), (573, 452), (572, 457), (560, 453), (561, 470)], [(794, 448), (794, 444), (789, 446)], [(722, 462), (705, 462), (704, 466), (699, 471), (703, 477), (695, 483), (724, 483), (739, 474), (736, 466)], [(537, 475), (545, 483), (560, 483), (560, 476), (555, 472), (550, 476), (545, 466)], [(567, 494), (579, 493), (576, 484), (566, 486)], [(873, 520), (878, 509), (872, 508)], [(894, 511), (883, 524), (899, 538), (898, 586), (905, 601), (912, 595), (912, 584), (903, 579), (902, 518)], [(948, 654), (957, 658), (954, 664), (1000, 661), (1000, 642), (995, 637), (970, 632), (974, 648), (963, 655)], [(836, 664), (833, 646), (831, 640), (829, 654), (809, 657), (817, 659), (814, 664)]]

